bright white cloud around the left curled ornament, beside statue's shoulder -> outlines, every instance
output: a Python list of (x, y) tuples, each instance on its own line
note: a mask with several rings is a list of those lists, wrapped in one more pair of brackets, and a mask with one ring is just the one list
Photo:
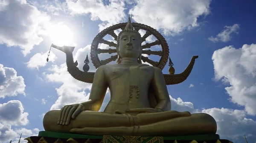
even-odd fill
[[(84, 66), (84, 60), (87, 53), (89, 53), (88, 58), (90, 59), (90, 45), (87, 45), (85, 48), (78, 49), (74, 56), (74, 61), (78, 61), (78, 67), (80, 70), (82, 70), (82, 67)], [(96, 71), (91, 62), (89, 63), (89, 66), (90, 71)], [(74, 79), (67, 72), (66, 63), (61, 64), (60, 66), (52, 65), (49, 71), (52, 73), (44, 73), (47, 81), (62, 83), (61, 87), (56, 88), (58, 99), (55, 101), (55, 104), (52, 105), (51, 109), (61, 109), (64, 105), (81, 103), (88, 100), (88, 93), (84, 90), (89, 90), (91, 88), (91, 84)]]

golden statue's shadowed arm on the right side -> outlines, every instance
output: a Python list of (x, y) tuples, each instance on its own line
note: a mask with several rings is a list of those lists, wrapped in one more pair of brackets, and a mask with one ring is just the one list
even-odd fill
[(171, 100), (169, 98), (169, 93), (166, 87), (163, 73), (158, 67), (154, 67), (154, 78), (152, 81), (152, 86), (158, 101), (155, 109), (159, 111), (171, 110)]

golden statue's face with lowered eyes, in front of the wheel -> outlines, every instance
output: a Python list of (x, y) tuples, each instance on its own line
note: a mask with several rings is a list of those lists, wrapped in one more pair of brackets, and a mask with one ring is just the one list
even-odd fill
[(140, 35), (135, 32), (123, 32), (119, 38), (119, 56), (138, 58), (141, 53)]

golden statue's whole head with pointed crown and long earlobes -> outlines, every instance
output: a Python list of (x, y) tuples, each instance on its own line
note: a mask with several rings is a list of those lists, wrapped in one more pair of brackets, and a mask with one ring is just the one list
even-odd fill
[(118, 34), (116, 50), (117, 63), (120, 63), (124, 57), (137, 58), (138, 63), (141, 63), (141, 36), (134, 30), (130, 16), (125, 29)]

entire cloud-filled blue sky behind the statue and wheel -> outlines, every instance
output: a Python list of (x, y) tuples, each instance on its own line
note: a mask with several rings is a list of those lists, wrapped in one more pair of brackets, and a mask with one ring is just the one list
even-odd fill
[(0, 1), (0, 141), (37, 135), (47, 111), (87, 100), (91, 84), (67, 73), (64, 53), (52, 49), (46, 62), (50, 45), (76, 46), (82, 69), (93, 38), (128, 13), (166, 38), (175, 73), (199, 56), (186, 81), (168, 86), (172, 109), (212, 115), (221, 138), (256, 141), (255, 1), (163, 1)]

